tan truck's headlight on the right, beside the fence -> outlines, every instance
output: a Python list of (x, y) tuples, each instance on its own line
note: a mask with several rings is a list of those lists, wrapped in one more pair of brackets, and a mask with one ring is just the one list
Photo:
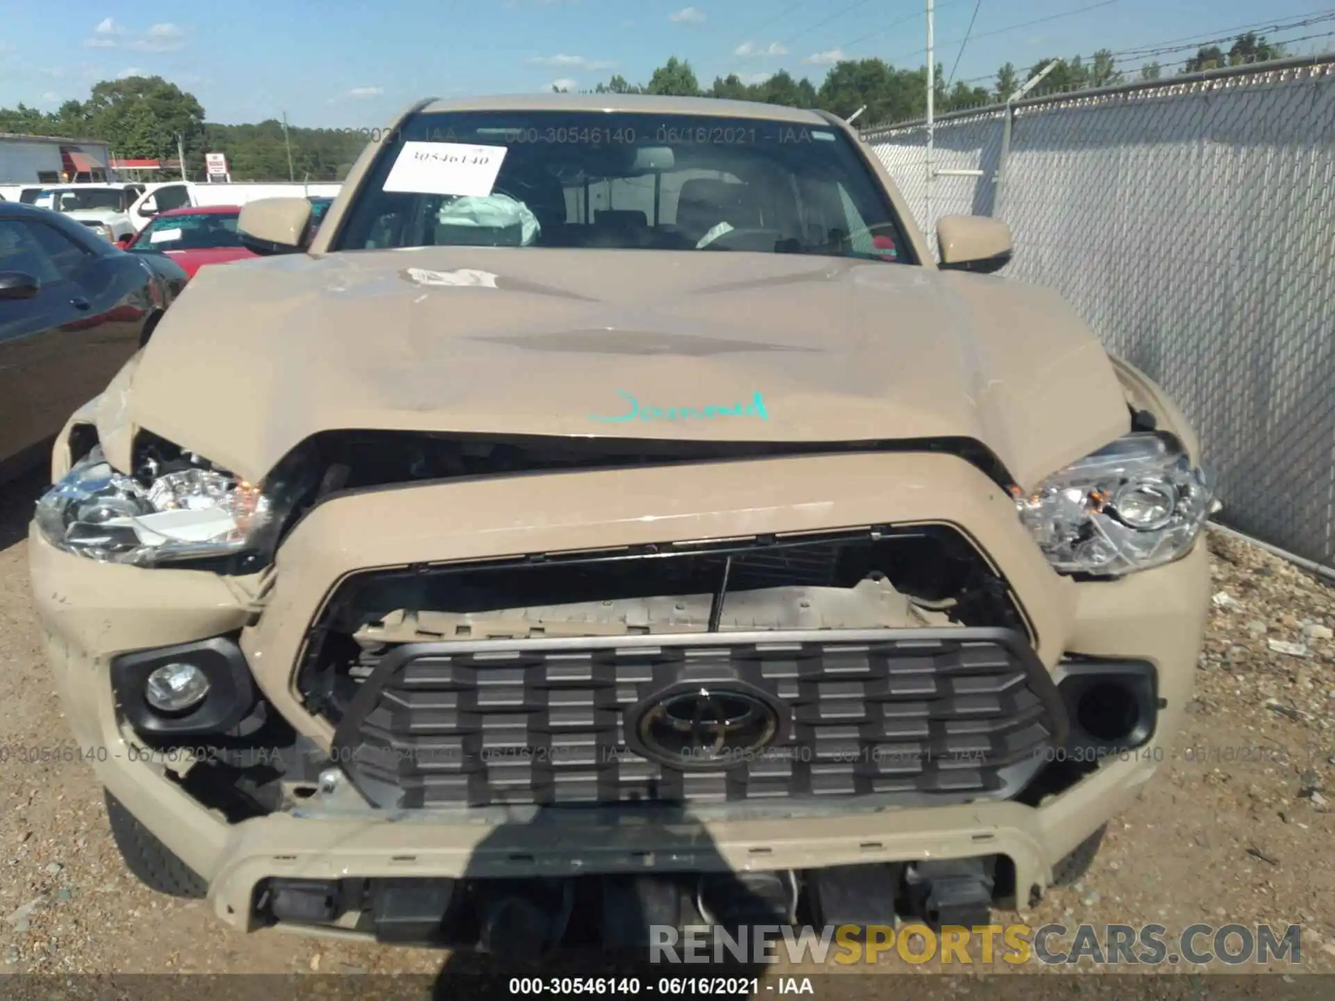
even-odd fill
[(1136, 432), (1017, 492), (1016, 507), (1056, 570), (1116, 577), (1185, 554), (1212, 500), (1176, 438)]

